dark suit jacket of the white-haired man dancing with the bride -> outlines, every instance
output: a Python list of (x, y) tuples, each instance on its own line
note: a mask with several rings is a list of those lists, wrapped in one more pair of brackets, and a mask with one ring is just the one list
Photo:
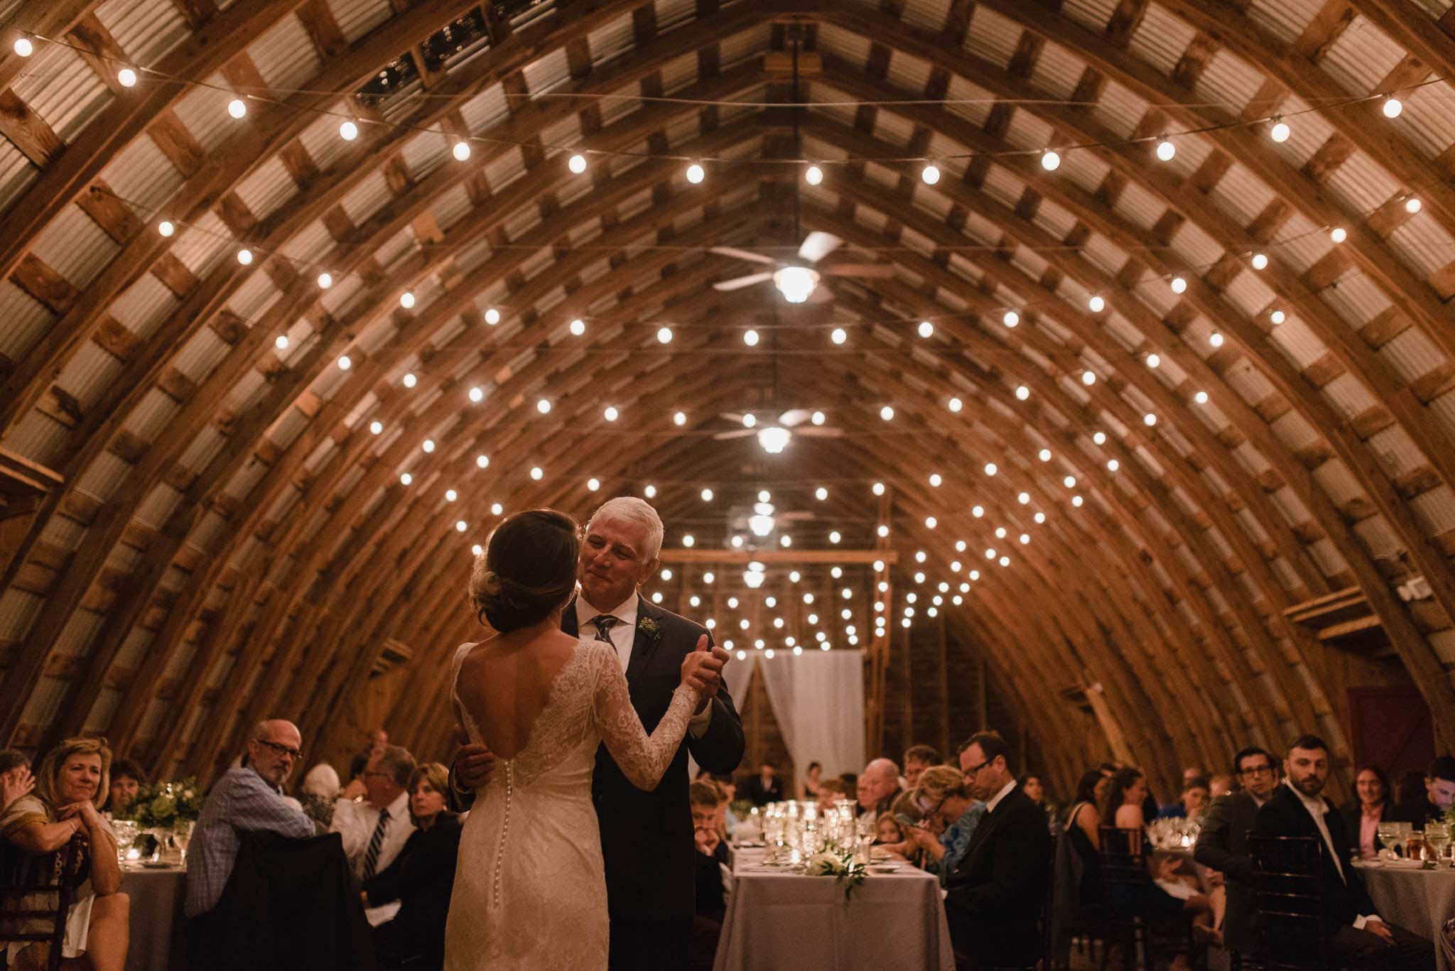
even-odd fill
[[(656, 632), (643, 630), (643, 623)], [(578, 635), (576, 601), (566, 604), (560, 629)], [(672, 691), (682, 680), (682, 658), (707, 627), (637, 597), (636, 641), (627, 661), (631, 706), (650, 732), (666, 715)], [(633, 786), (607, 747), (597, 751), (591, 798), (601, 824), (601, 855), (607, 863), (607, 908), (613, 919), (693, 919), (693, 811), (687, 802), (687, 753), (711, 773), (730, 774), (742, 761), (742, 721), (726, 681), (711, 700), (713, 719), (701, 738), (691, 732), (652, 792)]]

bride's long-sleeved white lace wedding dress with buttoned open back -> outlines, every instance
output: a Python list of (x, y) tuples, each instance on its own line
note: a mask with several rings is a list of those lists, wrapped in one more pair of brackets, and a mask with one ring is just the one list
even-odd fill
[[(474, 646), (455, 651), (451, 696), (470, 740), (489, 744), (458, 693)], [(519, 751), (496, 763), (466, 820), (445, 971), (607, 967), (607, 882), (591, 802), (597, 747), (605, 742), (627, 779), (652, 789), (695, 703), (697, 693), (678, 686), (647, 737), (611, 645), (578, 641)]]

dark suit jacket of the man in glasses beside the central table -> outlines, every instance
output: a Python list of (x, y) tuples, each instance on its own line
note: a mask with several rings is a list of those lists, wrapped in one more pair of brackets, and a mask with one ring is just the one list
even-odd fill
[(950, 875), (944, 916), (954, 949), (979, 968), (1035, 965), (1049, 876), (1046, 814), (1016, 786), (981, 820)]

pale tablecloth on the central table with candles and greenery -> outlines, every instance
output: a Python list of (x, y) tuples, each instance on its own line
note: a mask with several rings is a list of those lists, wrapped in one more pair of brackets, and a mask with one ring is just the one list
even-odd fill
[(760, 872), (761, 856), (733, 856), (713, 971), (954, 971), (933, 875), (912, 868), (870, 873), (845, 901), (837, 879)]

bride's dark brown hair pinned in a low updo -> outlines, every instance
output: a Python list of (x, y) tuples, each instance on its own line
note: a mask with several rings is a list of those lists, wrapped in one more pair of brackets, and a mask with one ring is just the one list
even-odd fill
[(470, 606), (501, 633), (540, 623), (576, 591), (579, 559), (576, 520), (554, 510), (517, 512), (474, 558)]

